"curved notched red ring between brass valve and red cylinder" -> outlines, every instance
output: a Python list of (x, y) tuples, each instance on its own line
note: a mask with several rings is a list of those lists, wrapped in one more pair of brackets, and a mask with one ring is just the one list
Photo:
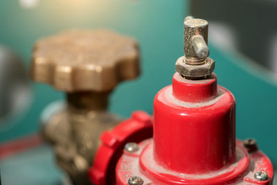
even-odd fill
[(92, 184), (116, 184), (115, 168), (126, 143), (139, 143), (152, 137), (152, 118), (143, 111), (136, 111), (111, 131), (104, 132), (93, 165), (88, 171)]

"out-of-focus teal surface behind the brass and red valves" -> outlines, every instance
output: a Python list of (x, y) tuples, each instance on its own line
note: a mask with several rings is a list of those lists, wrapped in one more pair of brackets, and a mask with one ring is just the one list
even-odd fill
[[(110, 110), (128, 117), (136, 109), (152, 114), (152, 101), (169, 85), (175, 61), (183, 55), (183, 19), (189, 2), (184, 0), (42, 0), (31, 10), (18, 1), (0, 1), (0, 43), (17, 51), (28, 70), (35, 40), (69, 28), (111, 28), (135, 37), (141, 46), (142, 73), (134, 81), (118, 85)], [(205, 17), (202, 17), (205, 19)], [(253, 30), (254, 31), (254, 30)], [(275, 162), (277, 87), (267, 71), (238, 53), (210, 45), (218, 83), (229, 89), (237, 102), (237, 137), (257, 139)], [(37, 132), (39, 114), (63, 94), (48, 85), (32, 83), (33, 100), (24, 114), (10, 118), (15, 125), (0, 132), (0, 141)]]

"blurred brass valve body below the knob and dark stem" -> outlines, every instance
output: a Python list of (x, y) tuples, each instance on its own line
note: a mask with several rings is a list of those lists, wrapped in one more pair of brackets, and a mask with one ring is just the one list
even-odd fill
[(83, 111), (70, 105), (56, 112), (43, 129), (54, 146), (56, 162), (74, 184), (90, 184), (87, 170), (100, 144), (100, 134), (121, 118), (105, 111)]

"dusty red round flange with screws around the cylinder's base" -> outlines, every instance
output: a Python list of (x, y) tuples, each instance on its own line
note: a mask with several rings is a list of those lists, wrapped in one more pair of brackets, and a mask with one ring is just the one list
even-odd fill
[[(272, 184), (273, 167), (268, 157), (260, 150), (248, 153), (242, 141), (237, 141), (237, 158), (232, 164), (227, 164), (220, 170), (208, 173), (186, 174), (178, 173), (157, 164), (152, 155), (153, 140), (139, 143), (140, 150), (135, 153), (124, 152), (116, 166), (116, 179), (118, 185), (125, 185), (129, 177), (139, 176), (144, 184)], [(254, 173), (264, 170), (268, 175), (267, 181), (257, 181)]]

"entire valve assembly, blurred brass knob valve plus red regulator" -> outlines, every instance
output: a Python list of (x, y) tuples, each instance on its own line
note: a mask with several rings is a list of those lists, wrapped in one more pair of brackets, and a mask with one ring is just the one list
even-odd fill
[(117, 82), (135, 78), (133, 39), (72, 30), (35, 44), (33, 79), (66, 91), (67, 105), (44, 125), (72, 184), (272, 184), (274, 170), (255, 139), (235, 138), (235, 98), (217, 85), (208, 22), (184, 19), (184, 56), (153, 116), (105, 111)]

